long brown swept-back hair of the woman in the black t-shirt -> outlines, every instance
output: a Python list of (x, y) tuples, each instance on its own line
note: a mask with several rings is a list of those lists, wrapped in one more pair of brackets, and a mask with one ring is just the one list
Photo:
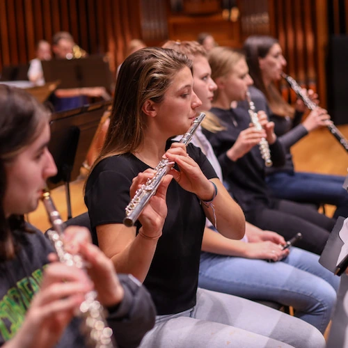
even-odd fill
[(128, 56), (118, 74), (110, 126), (93, 167), (106, 157), (134, 152), (143, 141), (146, 100), (161, 102), (175, 75), (192, 62), (172, 49), (150, 47)]

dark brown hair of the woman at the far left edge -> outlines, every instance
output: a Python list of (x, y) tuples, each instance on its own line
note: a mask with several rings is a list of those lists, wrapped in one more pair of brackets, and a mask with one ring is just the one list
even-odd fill
[(23, 216), (6, 218), (6, 164), (38, 138), (50, 113), (33, 96), (19, 88), (0, 85), (0, 261), (15, 255), (16, 229), (26, 230)]

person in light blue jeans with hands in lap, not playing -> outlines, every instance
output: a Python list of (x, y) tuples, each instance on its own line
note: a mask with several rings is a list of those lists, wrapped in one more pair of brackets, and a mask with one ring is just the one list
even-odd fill
[[(186, 54), (193, 62), (193, 91), (214, 121), (212, 98), (217, 86), (203, 46), (195, 41), (167, 41), (164, 48)], [(212, 122), (205, 122), (207, 128)], [(212, 129), (210, 126), (209, 129)], [(221, 167), (212, 146), (197, 129), (191, 140), (207, 156), (222, 181)], [(332, 317), (340, 278), (319, 264), (319, 256), (300, 248), (282, 250), (285, 240), (276, 232), (260, 230), (246, 222), (240, 241), (228, 239), (208, 228), (203, 235), (198, 286), (256, 301), (272, 301), (294, 308), (294, 315), (324, 333)], [(266, 262), (272, 260), (273, 262)]]

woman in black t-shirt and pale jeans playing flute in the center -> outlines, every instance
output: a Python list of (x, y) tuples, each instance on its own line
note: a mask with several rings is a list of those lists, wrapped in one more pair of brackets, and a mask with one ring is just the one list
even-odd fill
[[(201, 105), (191, 68), (172, 49), (145, 48), (126, 58), (106, 141), (86, 183), (93, 241), (118, 271), (143, 282), (155, 302), (157, 322), (141, 347), (324, 347), (322, 334), (298, 318), (197, 289), (205, 219), (232, 239), (244, 235), (245, 220), (205, 155), (171, 141), (187, 132)], [(126, 227), (129, 186), (145, 184), (164, 158), (175, 162), (161, 182), (168, 186), (161, 191), (168, 207), (164, 225), (155, 229), (140, 217)], [(161, 207), (155, 203), (152, 209)]]

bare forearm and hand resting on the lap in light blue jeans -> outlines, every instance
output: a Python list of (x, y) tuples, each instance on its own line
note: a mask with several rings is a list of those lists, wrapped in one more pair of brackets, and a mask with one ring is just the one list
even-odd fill
[(279, 245), (271, 241), (245, 243), (223, 237), (209, 228), (204, 230), (202, 250), (219, 255), (274, 261), (281, 260), (289, 254), (289, 250), (281, 251)]

